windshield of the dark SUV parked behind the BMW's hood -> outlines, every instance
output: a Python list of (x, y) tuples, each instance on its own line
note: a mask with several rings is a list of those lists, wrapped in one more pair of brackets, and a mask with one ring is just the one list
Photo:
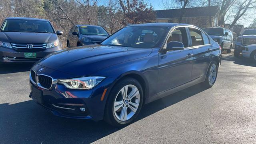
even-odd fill
[(106, 30), (101, 27), (96, 26), (80, 26), (80, 33), (83, 35), (100, 35), (100, 36), (108, 36)]

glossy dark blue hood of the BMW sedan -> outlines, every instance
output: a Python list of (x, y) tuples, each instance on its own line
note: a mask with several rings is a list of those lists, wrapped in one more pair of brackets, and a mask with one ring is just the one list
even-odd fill
[(37, 64), (76, 76), (86, 76), (115, 64), (148, 56), (151, 52), (151, 48), (89, 45), (54, 52)]

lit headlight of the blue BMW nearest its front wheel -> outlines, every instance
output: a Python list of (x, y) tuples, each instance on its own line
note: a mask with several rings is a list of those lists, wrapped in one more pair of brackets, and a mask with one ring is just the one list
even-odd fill
[(102, 76), (89, 76), (82, 78), (72, 78), (68, 80), (58, 80), (59, 84), (64, 84), (66, 88), (78, 89), (78, 90), (89, 90), (99, 84), (106, 77)]

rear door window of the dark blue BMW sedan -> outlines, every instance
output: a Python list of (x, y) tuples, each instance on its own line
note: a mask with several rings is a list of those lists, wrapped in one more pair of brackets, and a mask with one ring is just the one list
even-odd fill
[(188, 28), (192, 40), (192, 46), (204, 45), (202, 33), (200, 30), (194, 28)]

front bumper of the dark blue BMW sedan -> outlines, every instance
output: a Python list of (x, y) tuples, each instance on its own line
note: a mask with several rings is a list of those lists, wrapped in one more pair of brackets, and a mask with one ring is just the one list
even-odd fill
[[(41, 66), (36, 65), (33, 67), (33, 69), (36, 71), (38, 70), (38, 67), (40, 68)], [(44, 68), (44, 74), (50, 75), (50, 73), (52, 73), (51, 76), (54, 79), (67, 77), (64, 76), (65, 73), (57, 73), (57, 71)], [(100, 82), (99, 85), (95, 86), (91, 90), (71, 90), (62, 84), (53, 84), (50, 90), (46, 90), (38, 87), (30, 80), (30, 98), (56, 116), (77, 119), (92, 119), (95, 121), (102, 120), (104, 117), (104, 109), (108, 92), (110, 91), (110, 87), (112, 86), (114, 80), (114, 78), (105, 78), (102, 80), (102, 82)], [(102, 99), (105, 89), (106, 93)], [(40, 94), (36, 93), (36, 91), (40, 91)], [(33, 96), (40, 95), (42, 98), (38, 100), (38, 98), (33, 97), (33, 92), (35, 93)], [(85, 111), (80, 110), (80, 108), (85, 108)]]

